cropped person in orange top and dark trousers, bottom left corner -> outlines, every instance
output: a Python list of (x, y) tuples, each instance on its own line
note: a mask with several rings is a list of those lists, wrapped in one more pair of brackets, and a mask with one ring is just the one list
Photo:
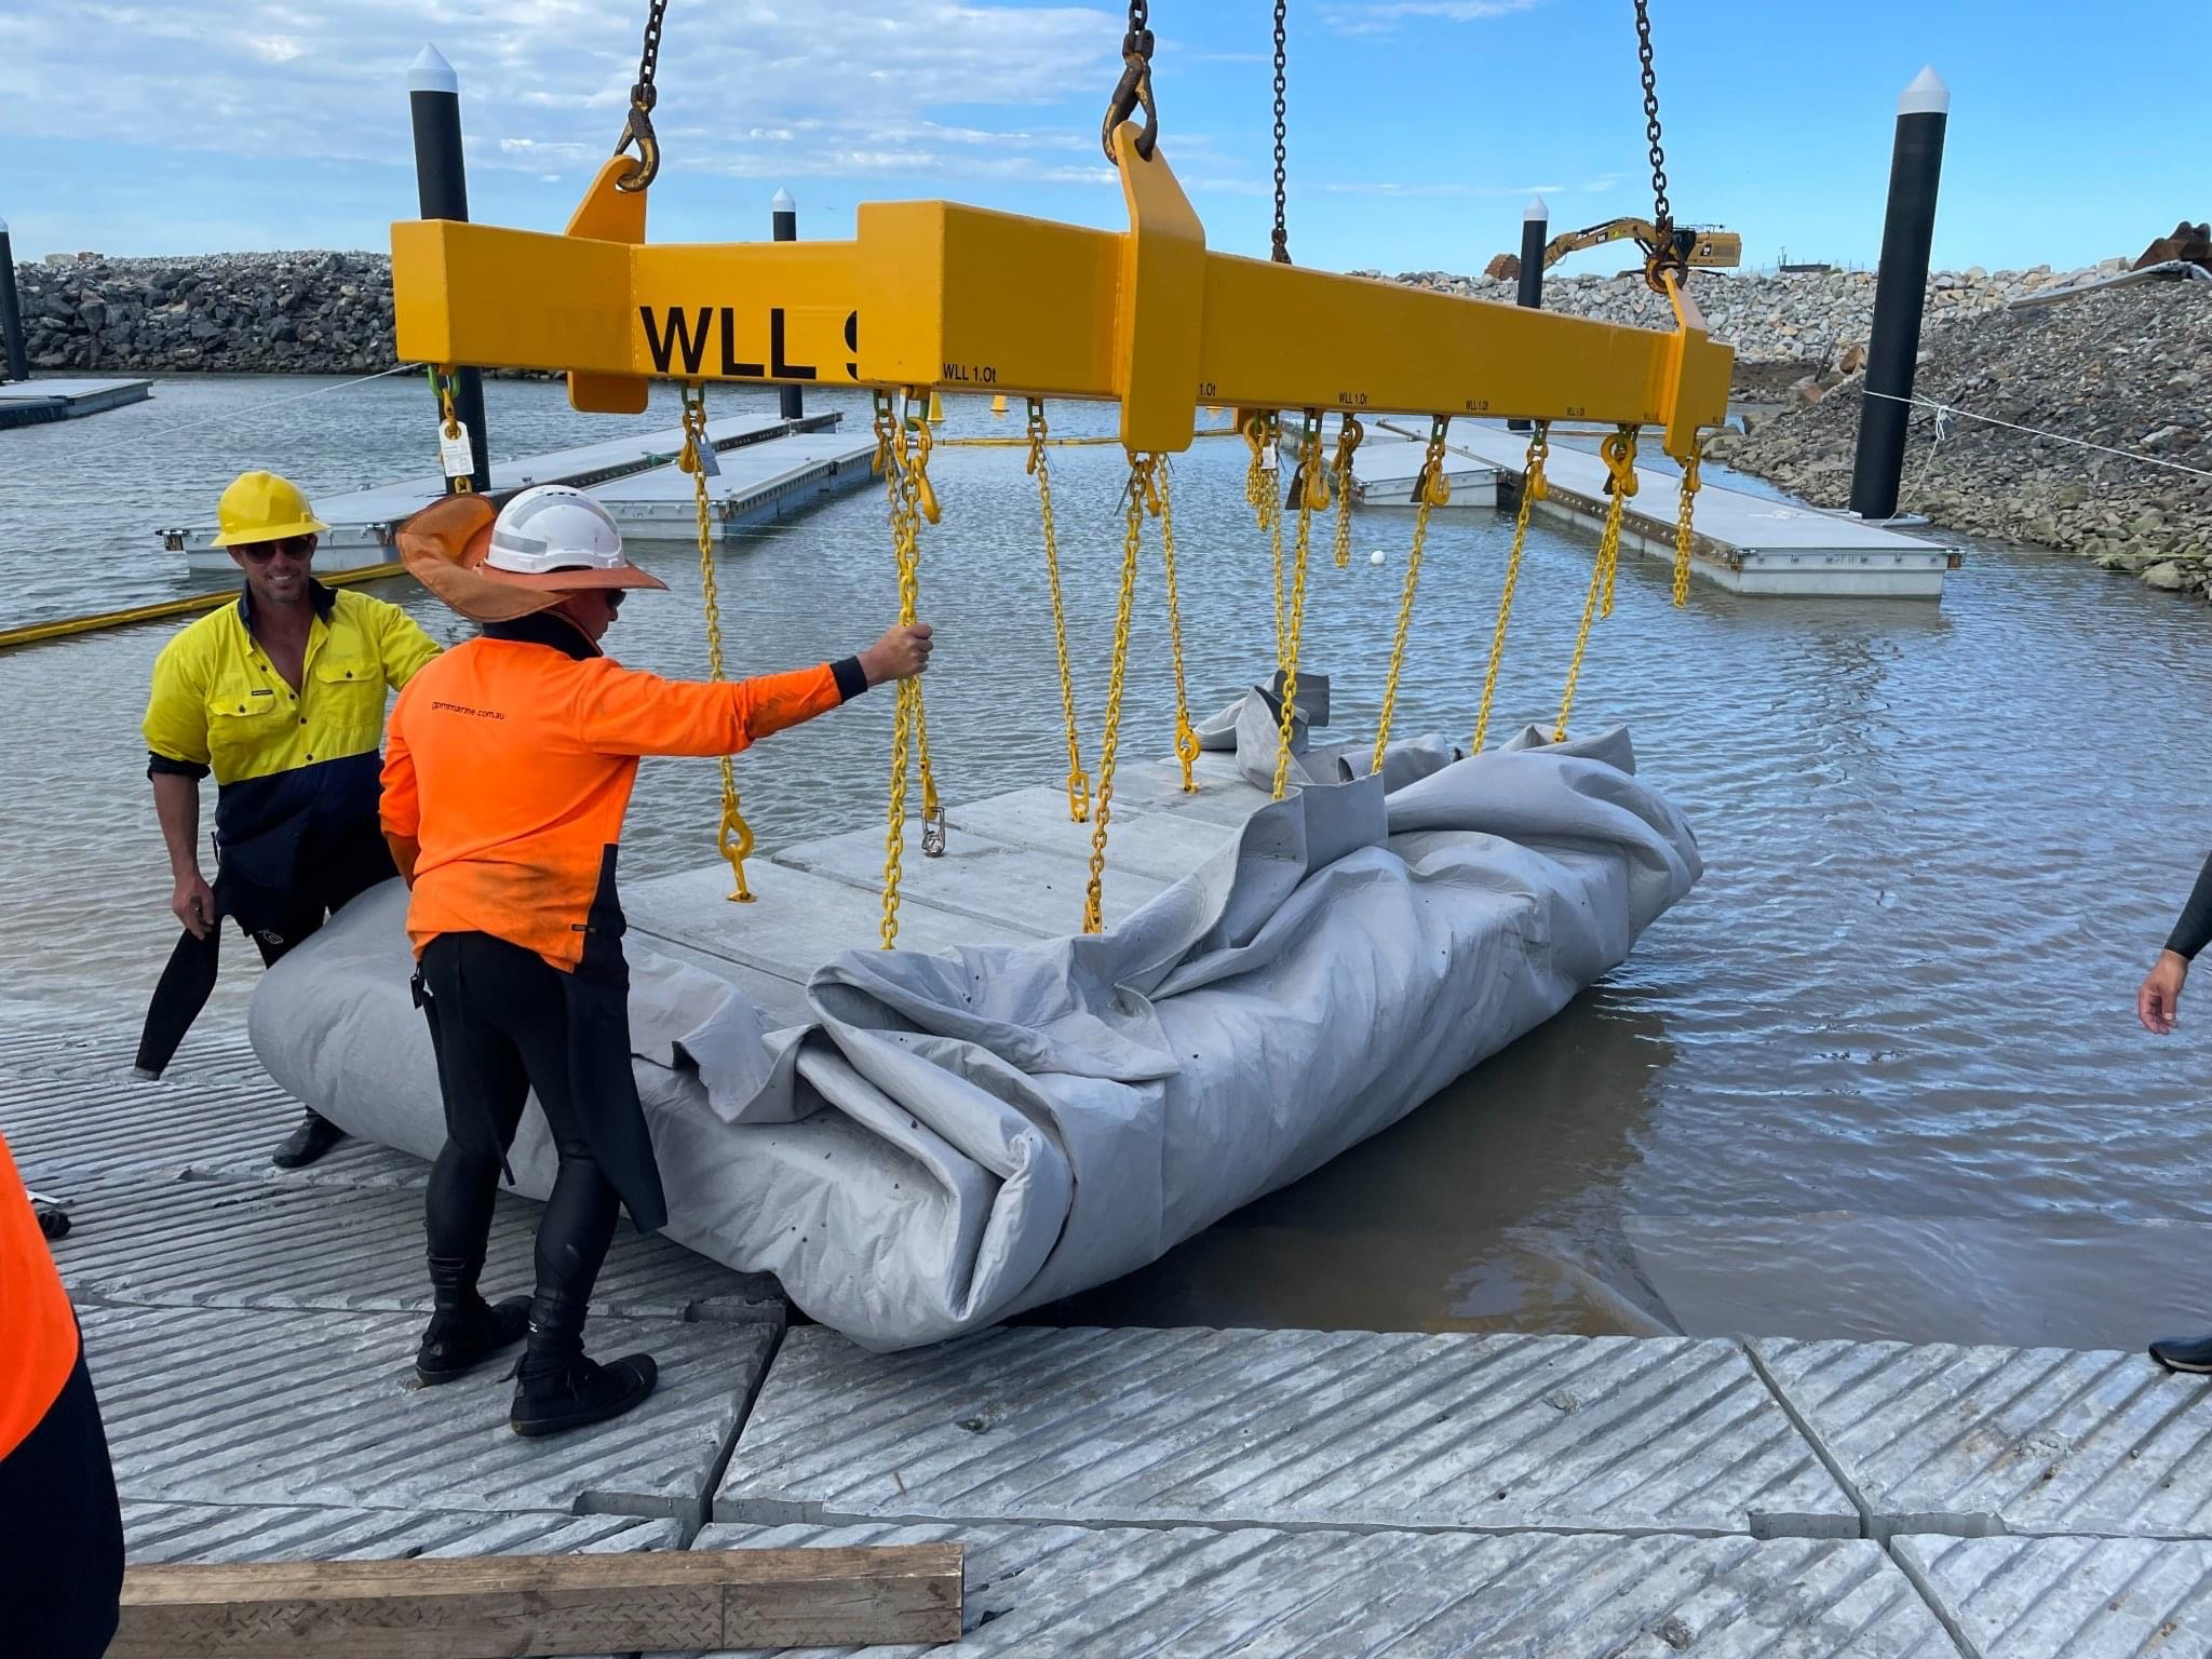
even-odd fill
[(97, 1659), (124, 1524), (77, 1316), (0, 1139), (0, 1652)]

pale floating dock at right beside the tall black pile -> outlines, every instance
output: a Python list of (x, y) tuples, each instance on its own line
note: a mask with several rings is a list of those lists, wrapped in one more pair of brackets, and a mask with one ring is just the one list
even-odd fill
[[(1506, 504), (1520, 504), (1528, 440), (1502, 425), (1453, 420), (1451, 442), (1491, 460), (1506, 480)], [(1365, 447), (1365, 445), (1363, 445)], [(1606, 462), (1553, 440), (1544, 465), (1551, 493), (1535, 515), (1595, 531), (1610, 495)], [(1637, 493), (1621, 515), (1621, 551), (1674, 562), (1677, 473), (1637, 467)], [(1958, 553), (1880, 524), (1820, 513), (1705, 482), (1697, 493), (1694, 575), (1730, 593), (1761, 597), (1940, 599)]]

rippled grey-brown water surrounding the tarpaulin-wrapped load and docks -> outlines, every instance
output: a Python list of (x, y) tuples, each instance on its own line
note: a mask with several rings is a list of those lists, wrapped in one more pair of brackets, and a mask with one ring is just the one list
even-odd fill
[[(0, 438), (9, 619), (175, 591), (153, 531), (206, 518), (237, 467), (319, 489), (422, 469), (416, 383), (265, 405), (301, 389), (164, 383), (148, 405)], [(493, 385), (491, 405), (502, 453), (608, 431), (568, 416), (555, 387)], [(212, 425), (177, 429), (192, 420)], [(953, 429), (1004, 425), (956, 403)], [(1241, 460), (1241, 445), (1199, 445), (1175, 478), (1197, 706), (1272, 650)], [(1091, 703), (1117, 467), (1113, 449), (1055, 456)], [(1057, 686), (1020, 451), (940, 451), (938, 487), (925, 611), (945, 630), (940, 779), (956, 799), (1053, 779)], [(1352, 568), (1314, 566), (1307, 664), (1336, 677), (1349, 730), (1374, 719), (1407, 529), (1365, 513)], [(1438, 520), (1400, 732), (1464, 739), (1506, 538), (1489, 513)], [(672, 593), (633, 604), (611, 644), (695, 672), (697, 573), (679, 549), (646, 560)], [(872, 495), (750, 538), (732, 566), (745, 668), (849, 650), (894, 606)], [(1588, 568), (1586, 542), (1533, 538), (1502, 719), (1557, 706)], [(407, 584), (387, 593), (458, 633)], [(1126, 732), (1164, 752), (1157, 586), (1139, 606)], [(2212, 836), (2208, 626), (2139, 584), (2002, 549), (1975, 551), (1940, 608), (1699, 588), (1677, 613), (1663, 573), (1630, 564), (1577, 723), (1630, 726), (1644, 772), (1697, 825), (1701, 887), (1608, 982), (1396, 1130), (1053, 1314), (2075, 1345), (2212, 1318), (2205, 1051), (2194, 1022), (2154, 1042), (2130, 1015)], [(113, 1009), (119, 1064), (173, 936), (137, 739), (164, 637), (0, 655), (4, 995)], [(761, 838), (869, 823), (887, 728), (889, 703), (863, 703), (748, 754)], [(626, 865), (710, 858), (714, 787), (712, 765), (648, 761)], [(237, 1020), (250, 984), (226, 980), (210, 1018)]]

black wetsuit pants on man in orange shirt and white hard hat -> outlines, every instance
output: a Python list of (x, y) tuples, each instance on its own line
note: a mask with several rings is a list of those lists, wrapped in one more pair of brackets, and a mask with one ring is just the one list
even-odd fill
[[(568, 1064), (562, 975), (491, 933), (440, 933), (422, 951), (422, 989), (445, 1093), (445, 1150), (429, 1175), (425, 1223), (438, 1261), (467, 1263), (473, 1290), (491, 1237), (500, 1166), (522, 1106), (538, 1093), (560, 1170), (538, 1219), (538, 1298), (526, 1369), (582, 1352), (584, 1305), (615, 1234), (615, 1188), (591, 1155)], [(546, 1340), (553, 1338), (553, 1340)]]

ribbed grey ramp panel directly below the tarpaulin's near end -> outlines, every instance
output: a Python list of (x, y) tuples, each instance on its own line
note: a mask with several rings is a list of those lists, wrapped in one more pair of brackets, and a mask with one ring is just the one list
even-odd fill
[(1734, 1343), (1363, 1332), (794, 1329), (714, 1517), (1858, 1535)]

